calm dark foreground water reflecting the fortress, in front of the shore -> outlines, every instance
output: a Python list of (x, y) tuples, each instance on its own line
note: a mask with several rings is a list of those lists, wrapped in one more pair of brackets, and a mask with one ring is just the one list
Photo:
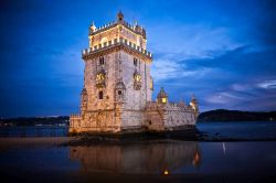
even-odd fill
[(45, 172), (73, 180), (96, 173), (110, 176), (168, 174), (265, 179), (276, 173), (276, 142), (170, 141), (129, 146), (14, 148), (0, 151), (0, 174), (7, 175), (10, 170), (13, 170), (12, 177), (31, 173), (38, 179)]

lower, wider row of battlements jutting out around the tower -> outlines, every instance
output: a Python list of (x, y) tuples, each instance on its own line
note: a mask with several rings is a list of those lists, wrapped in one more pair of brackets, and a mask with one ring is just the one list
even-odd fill
[(103, 44), (98, 44), (95, 45), (94, 47), (89, 47), (89, 49), (85, 49), (82, 52), (82, 57), (86, 57), (91, 54), (107, 50), (107, 49), (112, 49), (115, 46), (124, 46), (125, 49), (129, 49), (130, 51), (135, 51), (139, 54), (142, 54), (144, 56), (152, 60), (152, 54), (144, 49), (141, 49), (140, 46), (136, 45), (135, 43), (129, 42), (126, 39), (114, 39), (112, 41), (105, 42)]

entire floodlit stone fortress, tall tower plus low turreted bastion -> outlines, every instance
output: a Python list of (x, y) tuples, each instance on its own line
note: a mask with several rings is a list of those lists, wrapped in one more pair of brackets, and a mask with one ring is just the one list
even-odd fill
[(167, 131), (194, 126), (199, 105), (170, 103), (164, 89), (151, 101), (152, 54), (146, 30), (128, 24), (124, 14), (104, 26), (89, 26), (89, 49), (84, 50), (84, 88), (81, 114), (70, 118), (70, 132)]

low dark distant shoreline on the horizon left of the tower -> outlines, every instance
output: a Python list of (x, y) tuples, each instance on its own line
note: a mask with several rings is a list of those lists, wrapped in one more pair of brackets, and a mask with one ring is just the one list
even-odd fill
[(68, 125), (68, 116), (7, 118), (0, 119), (0, 126)]

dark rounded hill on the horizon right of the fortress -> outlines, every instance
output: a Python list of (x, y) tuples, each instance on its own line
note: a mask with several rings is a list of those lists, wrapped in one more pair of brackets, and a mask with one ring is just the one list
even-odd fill
[(199, 122), (204, 121), (276, 121), (276, 111), (256, 112), (240, 110), (210, 110), (200, 114)]

